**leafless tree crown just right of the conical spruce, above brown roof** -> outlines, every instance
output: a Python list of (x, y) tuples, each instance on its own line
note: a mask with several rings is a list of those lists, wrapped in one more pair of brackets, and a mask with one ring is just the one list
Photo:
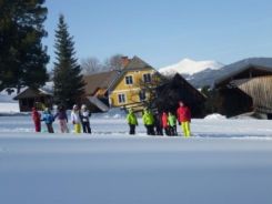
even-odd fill
[(87, 59), (81, 60), (81, 69), (83, 74), (92, 74), (102, 71), (102, 64), (100, 61), (94, 58), (90, 57)]

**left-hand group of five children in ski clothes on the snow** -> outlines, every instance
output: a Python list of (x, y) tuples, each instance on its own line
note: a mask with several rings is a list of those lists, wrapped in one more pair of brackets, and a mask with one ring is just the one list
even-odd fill
[[(81, 126), (84, 133), (91, 133), (89, 118), (90, 112), (84, 104), (81, 106), (81, 110), (79, 110), (78, 105), (73, 105), (71, 122), (75, 133), (81, 133)], [(41, 122), (44, 121), (48, 132), (54, 133), (52, 124), (56, 119), (59, 121), (60, 132), (69, 133), (68, 116), (63, 105), (58, 106), (58, 111), (54, 115), (48, 108), (43, 110), (42, 114), (40, 114), (36, 108), (32, 108), (32, 120), (34, 122), (36, 132), (41, 132)]]

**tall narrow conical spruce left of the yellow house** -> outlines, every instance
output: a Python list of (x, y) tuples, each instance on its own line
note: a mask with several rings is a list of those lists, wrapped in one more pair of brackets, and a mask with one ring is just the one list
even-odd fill
[(56, 30), (56, 55), (53, 81), (54, 81), (54, 102), (71, 108), (79, 103), (84, 93), (84, 82), (81, 75), (81, 68), (74, 57), (73, 38), (68, 32), (64, 17), (59, 18), (58, 29)]

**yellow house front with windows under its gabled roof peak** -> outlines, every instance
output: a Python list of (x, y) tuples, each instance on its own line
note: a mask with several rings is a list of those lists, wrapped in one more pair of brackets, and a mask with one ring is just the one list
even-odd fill
[(147, 91), (158, 71), (138, 57), (123, 59), (123, 69), (109, 89), (110, 106), (140, 106), (150, 98)]

